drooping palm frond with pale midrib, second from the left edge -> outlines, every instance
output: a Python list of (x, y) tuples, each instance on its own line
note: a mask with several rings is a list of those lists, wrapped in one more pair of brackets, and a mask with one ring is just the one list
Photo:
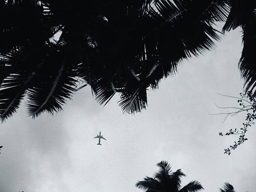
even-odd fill
[[(62, 58), (62, 60), (60, 59)], [(59, 63), (61, 61), (61, 63)], [(76, 79), (74, 79), (74, 70), (66, 67), (66, 56), (56, 51), (45, 61), (48, 65), (54, 62), (55, 68), (45, 65), (45, 74), (37, 74), (37, 84), (28, 89), (28, 113), (32, 117), (39, 116), (43, 112), (53, 114), (54, 111), (62, 110), (62, 104), (66, 98), (70, 98), (75, 91)]]

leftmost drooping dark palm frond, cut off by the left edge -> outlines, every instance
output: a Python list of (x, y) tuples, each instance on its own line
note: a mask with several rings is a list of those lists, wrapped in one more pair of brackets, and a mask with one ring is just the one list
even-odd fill
[[(36, 50), (32, 51), (34, 54)], [(24, 98), (28, 85), (38, 69), (37, 56), (31, 57), (31, 50), (16, 46), (8, 54), (0, 54), (3, 63), (0, 77), (0, 119), (11, 117)], [(38, 53), (38, 52), (37, 52)], [(19, 64), (19, 65), (18, 65)]]

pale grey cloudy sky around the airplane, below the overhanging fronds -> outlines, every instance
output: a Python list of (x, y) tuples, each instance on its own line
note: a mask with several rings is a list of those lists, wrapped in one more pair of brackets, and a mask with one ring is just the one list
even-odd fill
[[(219, 106), (236, 106), (243, 80), (238, 71), (242, 51), (239, 30), (222, 36), (214, 51), (184, 62), (173, 78), (148, 91), (148, 108), (122, 114), (118, 96), (105, 107), (86, 87), (57, 115), (27, 117), (24, 104), (0, 125), (0, 192), (142, 192), (135, 183), (153, 176), (167, 160), (187, 175), (182, 185), (198, 180), (205, 192), (224, 182), (236, 192), (256, 188), (256, 130), (230, 156), (224, 148), (237, 136), (218, 132), (240, 128), (245, 114), (222, 123)], [(102, 146), (93, 139), (99, 131)]]

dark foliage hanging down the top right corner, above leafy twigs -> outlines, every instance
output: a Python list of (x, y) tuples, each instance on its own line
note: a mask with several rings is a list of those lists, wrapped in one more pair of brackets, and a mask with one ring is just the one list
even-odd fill
[(240, 58), (239, 67), (245, 79), (245, 91), (252, 91), (256, 96), (256, 1), (230, 0), (230, 14), (223, 30), (229, 31), (238, 26), (242, 28), (244, 48)]

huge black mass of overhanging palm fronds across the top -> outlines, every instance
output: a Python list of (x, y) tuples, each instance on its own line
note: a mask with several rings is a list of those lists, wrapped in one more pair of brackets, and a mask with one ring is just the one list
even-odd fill
[(220, 21), (224, 31), (242, 26), (240, 69), (254, 88), (255, 8), (254, 0), (0, 0), (0, 119), (25, 96), (33, 118), (58, 112), (80, 80), (100, 104), (119, 93), (124, 112), (140, 112), (148, 88), (211, 50)]

